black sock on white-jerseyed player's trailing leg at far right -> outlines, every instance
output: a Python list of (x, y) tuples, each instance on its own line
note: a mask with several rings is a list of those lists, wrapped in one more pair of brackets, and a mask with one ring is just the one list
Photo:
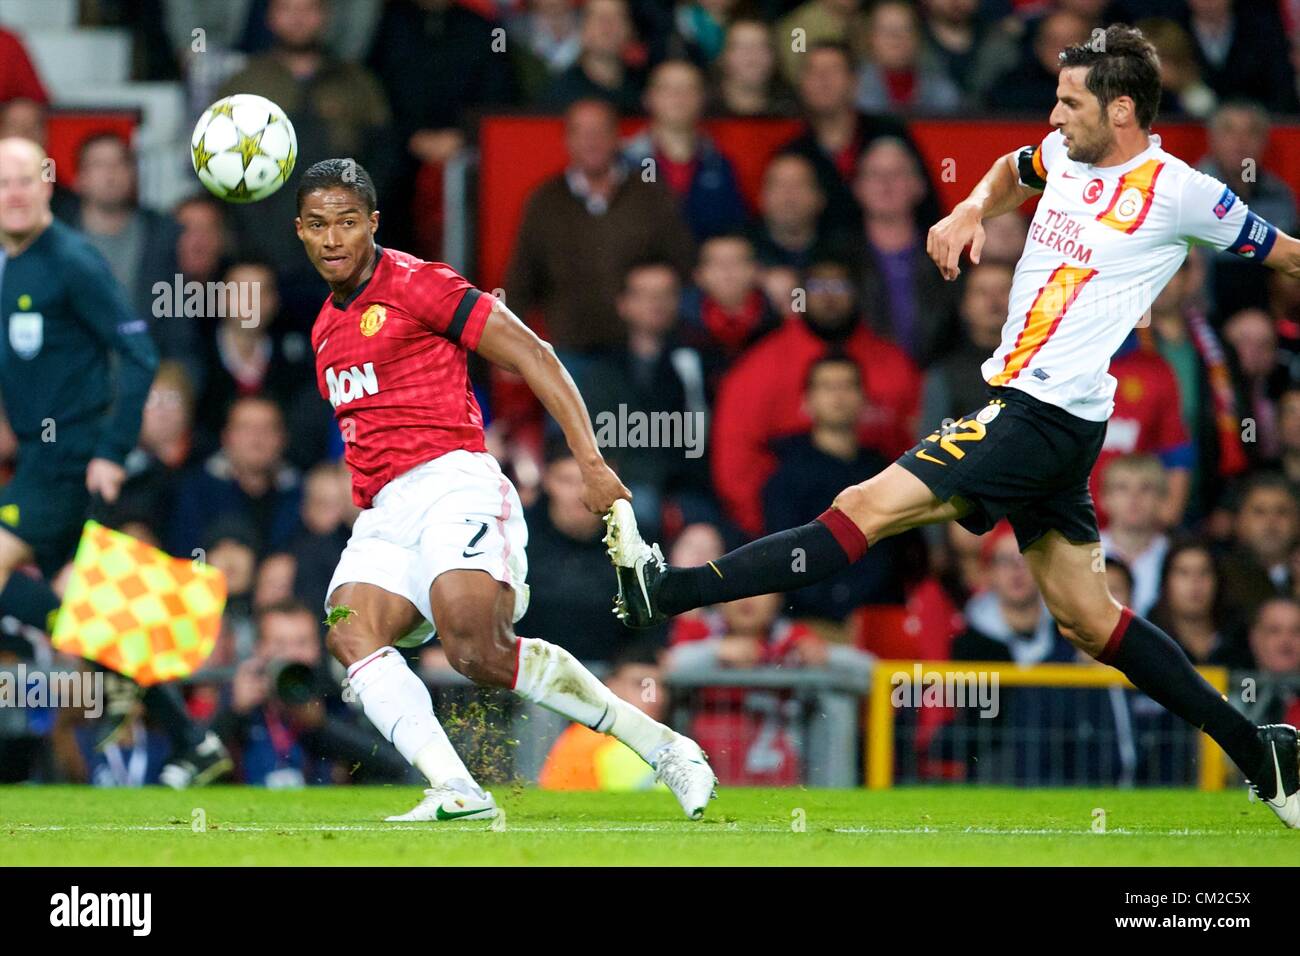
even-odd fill
[(1268, 784), (1256, 780), (1265, 749), (1254, 724), (1196, 672), (1167, 633), (1124, 607), (1097, 659), (1123, 671), (1139, 691), (1209, 734), (1252, 783)]

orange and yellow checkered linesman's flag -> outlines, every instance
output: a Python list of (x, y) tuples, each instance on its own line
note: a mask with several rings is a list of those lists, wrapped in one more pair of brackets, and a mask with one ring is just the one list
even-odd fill
[(225, 605), (217, 568), (86, 522), (51, 641), (150, 687), (203, 666)]

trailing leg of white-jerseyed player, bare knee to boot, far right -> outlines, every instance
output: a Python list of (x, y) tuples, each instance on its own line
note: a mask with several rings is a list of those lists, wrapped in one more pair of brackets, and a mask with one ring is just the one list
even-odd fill
[(1260, 799), (1300, 829), (1300, 741), (1290, 724), (1256, 727), (1196, 672), (1158, 627), (1110, 596), (1100, 542), (1071, 544), (1049, 531), (1027, 549), (1048, 610), (1071, 644), (1122, 671), (1134, 687), (1223, 748)]

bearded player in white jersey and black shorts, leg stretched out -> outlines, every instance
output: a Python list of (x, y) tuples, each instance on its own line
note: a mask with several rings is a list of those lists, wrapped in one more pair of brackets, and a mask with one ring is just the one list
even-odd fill
[[(632, 509), (615, 502), (607, 542), (616, 606), (627, 623), (647, 626), (812, 584), (909, 528), (957, 520), (982, 535), (1005, 516), (1061, 632), (1209, 734), (1282, 822), (1300, 827), (1295, 727), (1252, 724), (1169, 635), (1110, 596), (1088, 493), (1113, 407), (1110, 356), (1188, 247), (1228, 250), (1300, 277), (1300, 242), (1161, 150), (1150, 133), (1160, 62), (1141, 33), (1117, 25), (1097, 39), (1061, 53), (1054, 131), (998, 159), (930, 230), (927, 251), (954, 280), (966, 246), (979, 261), (984, 219), (1043, 196), (1015, 268), (1002, 343), (982, 367), (988, 403), (841, 492), (811, 523), (703, 567), (666, 567), (637, 533)], [(802, 561), (792, 561), (800, 553)]]

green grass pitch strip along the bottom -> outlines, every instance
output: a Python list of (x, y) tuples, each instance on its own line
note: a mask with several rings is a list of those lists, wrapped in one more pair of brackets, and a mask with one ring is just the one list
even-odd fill
[[(500, 829), (384, 823), (420, 796), (406, 787), (0, 787), (0, 858), (10, 866), (1300, 862), (1300, 832), (1242, 790), (723, 790), (698, 823), (663, 792), (495, 792)], [(1093, 829), (1097, 810), (1105, 832)]]

